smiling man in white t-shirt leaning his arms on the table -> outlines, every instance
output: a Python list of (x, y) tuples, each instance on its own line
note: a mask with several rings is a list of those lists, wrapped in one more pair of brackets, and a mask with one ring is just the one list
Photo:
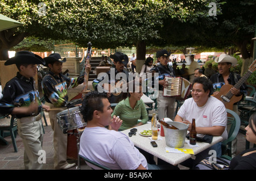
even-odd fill
[[(212, 83), (209, 79), (195, 78), (192, 83), (192, 98), (184, 101), (174, 120), (189, 124), (188, 131), (190, 131), (192, 119), (195, 118), (197, 134), (222, 136), (223, 140), (226, 140), (228, 138), (226, 108), (220, 100), (210, 96), (211, 94)], [(220, 156), (221, 142), (209, 148), (211, 149), (216, 150), (217, 156)]]

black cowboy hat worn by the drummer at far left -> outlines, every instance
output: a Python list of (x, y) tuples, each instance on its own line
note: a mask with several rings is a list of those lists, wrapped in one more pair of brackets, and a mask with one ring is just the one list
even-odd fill
[(15, 53), (14, 57), (9, 58), (5, 65), (12, 64), (45, 64), (45, 61), (42, 57), (28, 51), (19, 51)]

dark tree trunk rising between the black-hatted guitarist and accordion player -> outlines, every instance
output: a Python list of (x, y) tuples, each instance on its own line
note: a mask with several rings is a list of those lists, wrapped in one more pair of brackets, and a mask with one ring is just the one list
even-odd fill
[(136, 52), (136, 72), (140, 73), (142, 65), (144, 64), (146, 60), (146, 41), (139, 40), (137, 42), (137, 52)]

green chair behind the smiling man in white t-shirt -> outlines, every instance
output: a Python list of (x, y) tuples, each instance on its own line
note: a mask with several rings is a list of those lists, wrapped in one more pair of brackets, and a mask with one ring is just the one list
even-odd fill
[(229, 128), (228, 139), (222, 141), (221, 149), (222, 149), (222, 155), (227, 154), (229, 157), (232, 157), (232, 153), (231, 153), (232, 141), (237, 137), (237, 134), (240, 129), (241, 120), (236, 112), (229, 109), (226, 109), (226, 112), (229, 113), (228, 123), (227, 123), (227, 128)]

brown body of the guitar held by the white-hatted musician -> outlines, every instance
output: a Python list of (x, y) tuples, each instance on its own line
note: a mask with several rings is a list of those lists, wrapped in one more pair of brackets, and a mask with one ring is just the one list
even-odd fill
[(228, 92), (232, 87), (233, 85), (230, 85), (230, 84), (223, 85), (220, 89), (220, 92), (217, 95), (212, 95), (218, 100), (220, 100), (222, 103), (224, 103), (225, 107), (229, 110), (233, 110), (233, 104), (242, 99), (242, 95), (240, 96), (232, 95), (232, 97), (229, 99), (230, 100), (229, 102), (226, 102), (224, 99), (221, 98), (222, 96), (225, 96), (226, 94), (228, 94)]

